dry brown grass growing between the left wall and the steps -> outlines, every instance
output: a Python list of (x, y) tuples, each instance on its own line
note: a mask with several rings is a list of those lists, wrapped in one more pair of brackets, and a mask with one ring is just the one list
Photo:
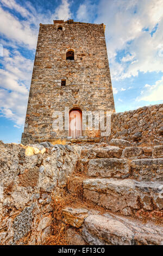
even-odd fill
[[(71, 208), (86, 208), (99, 211), (99, 214), (106, 213), (106, 209), (83, 198), (83, 180), (87, 177), (84, 174), (76, 173), (72, 175), (67, 182), (66, 188), (60, 189), (60, 194), (53, 194), (53, 234), (48, 237), (46, 245), (68, 245), (66, 239), (66, 230), (71, 226), (63, 223), (62, 209), (65, 207)], [(70, 191), (71, 190), (71, 191)], [(71, 227), (72, 228), (72, 227)], [(76, 230), (78, 231), (78, 230)]]

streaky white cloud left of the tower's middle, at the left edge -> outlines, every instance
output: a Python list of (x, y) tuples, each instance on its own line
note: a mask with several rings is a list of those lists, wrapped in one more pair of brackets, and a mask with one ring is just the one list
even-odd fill
[(16, 125), (23, 125), (26, 115), (28, 92), (32, 75), (33, 61), (24, 58), (18, 51), (4, 49), (3, 69), (0, 69), (0, 111), (13, 120)]

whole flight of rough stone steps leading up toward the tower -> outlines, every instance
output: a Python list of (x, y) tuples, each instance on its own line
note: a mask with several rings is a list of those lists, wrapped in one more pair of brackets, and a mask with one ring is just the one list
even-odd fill
[(73, 245), (163, 245), (163, 146), (126, 147), (121, 141), (79, 149), (83, 197), (104, 211), (62, 210), (65, 223), (82, 227), (80, 239), (69, 229)]

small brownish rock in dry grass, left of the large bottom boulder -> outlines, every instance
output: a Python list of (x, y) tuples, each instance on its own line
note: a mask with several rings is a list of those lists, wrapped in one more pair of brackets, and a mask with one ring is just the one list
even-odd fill
[(68, 228), (66, 230), (66, 239), (70, 245), (86, 245), (83, 237), (76, 233), (73, 228)]

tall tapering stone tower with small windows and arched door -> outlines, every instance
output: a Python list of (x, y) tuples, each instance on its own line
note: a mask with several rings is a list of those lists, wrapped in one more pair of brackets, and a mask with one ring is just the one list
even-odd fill
[[(73, 20), (40, 24), (23, 144), (101, 136), (100, 128), (82, 130), (82, 122), (84, 113), (115, 112), (104, 30)], [(56, 118), (62, 129), (54, 129)]]

